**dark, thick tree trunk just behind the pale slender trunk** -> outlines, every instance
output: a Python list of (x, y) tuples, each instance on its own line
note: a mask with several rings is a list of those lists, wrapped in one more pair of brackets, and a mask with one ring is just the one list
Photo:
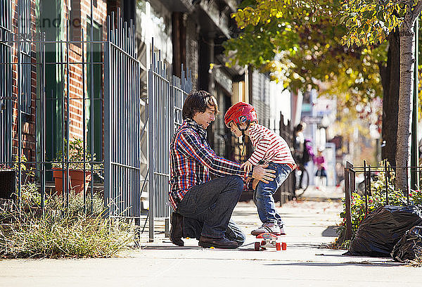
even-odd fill
[(388, 36), (387, 66), (379, 65), (383, 84), (383, 147), (381, 158), (395, 166), (397, 115), (399, 111), (400, 35), (398, 29)]

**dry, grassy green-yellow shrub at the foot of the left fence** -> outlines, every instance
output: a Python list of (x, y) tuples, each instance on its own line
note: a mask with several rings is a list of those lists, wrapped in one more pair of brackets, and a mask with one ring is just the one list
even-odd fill
[[(28, 192), (23, 191), (22, 198), (38, 202)], [(20, 213), (17, 208), (3, 210), (0, 257), (110, 257), (127, 248), (133, 241), (129, 224), (104, 219), (101, 196), (94, 195), (92, 205), (90, 213), (82, 196), (71, 194), (68, 208), (61, 197), (46, 198), (42, 216), (39, 205), (26, 205)]]

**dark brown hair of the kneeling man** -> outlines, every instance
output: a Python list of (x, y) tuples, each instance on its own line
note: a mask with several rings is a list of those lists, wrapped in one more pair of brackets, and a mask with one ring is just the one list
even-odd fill
[(191, 119), (196, 113), (204, 113), (207, 108), (215, 108), (215, 113), (218, 113), (217, 100), (212, 94), (207, 91), (192, 90), (183, 105), (181, 115), (186, 119)]

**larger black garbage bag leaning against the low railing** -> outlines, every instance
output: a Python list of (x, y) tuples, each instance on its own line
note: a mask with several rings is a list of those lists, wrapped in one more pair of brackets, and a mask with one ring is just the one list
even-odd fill
[(422, 212), (415, 205), (377, 208), (360, 224), (345, 255), (391, 257), (392, 248), (416, 225), (422, 225)]

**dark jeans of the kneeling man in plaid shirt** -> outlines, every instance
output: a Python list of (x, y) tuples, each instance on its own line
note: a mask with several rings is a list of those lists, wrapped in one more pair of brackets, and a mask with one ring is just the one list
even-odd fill
[[(203, 222), (200, 233), (203, 236), (222, 238), (226, 234), (228, 239), (243, 238), (244, 241), (244, 234), (234, 222), (230, 222), (228, 229), (231, 213), (242, 191), (243, 180), (236, 175), (214, 179), (189, 189), (177, 205), (177, 212), (185, 217), (184, 236), (187, 237), (192, 233), (185, 234), (185, 229), (198, 230), (200, 228), (198, 224)], [(197, 237), (198, 234), (193, 233)]]

